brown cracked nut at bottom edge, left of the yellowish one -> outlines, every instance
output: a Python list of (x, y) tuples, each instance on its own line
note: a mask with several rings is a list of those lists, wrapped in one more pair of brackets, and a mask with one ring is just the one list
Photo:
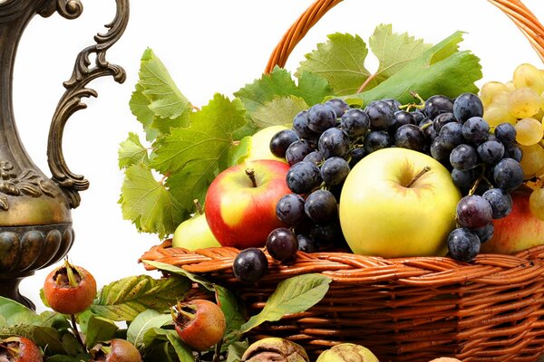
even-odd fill
[(242, 356), (243, 362), (309, 362), (304, 348), (283, 338), (263, 338), (253, 343)]

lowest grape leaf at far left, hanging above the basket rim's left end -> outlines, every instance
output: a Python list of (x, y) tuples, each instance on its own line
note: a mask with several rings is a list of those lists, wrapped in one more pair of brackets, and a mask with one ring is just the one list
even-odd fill
[(158, 233), (160, 238), (173, 233), (185, 216), (167, 187), (143, 164), (125, 171), (119, 203), (126, 220), (131, 220), (139, 231)]

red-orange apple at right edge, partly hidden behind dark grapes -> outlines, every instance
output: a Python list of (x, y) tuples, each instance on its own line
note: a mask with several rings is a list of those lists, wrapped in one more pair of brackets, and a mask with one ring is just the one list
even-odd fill
[(530, 191), (513, 191), (510, 195), (512, 211), (493, 220), (493, 237), (481, 244), (481, 252), (511, 254), (544, 243), (544, 221), (530, 212)]

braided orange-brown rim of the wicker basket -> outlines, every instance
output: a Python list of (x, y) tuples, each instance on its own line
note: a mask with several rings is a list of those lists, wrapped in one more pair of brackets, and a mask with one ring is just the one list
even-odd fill
[[(240, 252), (232, 247), (212, 247), (189, 251), (172, 247), (171, 239), (151, 247), (138, 262), (148, 271), (151, 262), (163, 262), (194, 274), (212, 275), (214, 279), (237, 283), (232, 272)], [(544, 244), (508, 254), (481, 253), (473, 261), (459, 262), (447, 256), (413, 256), (385, 259), (350, 252), (297, 252), (290, 263), (277, 262), (265, 251), (267, 274), (259, 282), (281, 281), (306, 273), (321, 273), (340, 283), (375, 283), (395, 281), (400, 285), (420, 287), (477, 282), (505, 285), (529, 281), (544, 275)]]

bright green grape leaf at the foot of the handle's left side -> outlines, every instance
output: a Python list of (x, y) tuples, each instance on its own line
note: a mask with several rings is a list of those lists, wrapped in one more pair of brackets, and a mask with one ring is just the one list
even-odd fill
[(260, 106), (277, 98), (296, 96), (305, 100), (306, 104), (313, 105), (332, 94), (327, 81), (321, 77), (301, 73), (297, 78), (298, 85), (289, 71), (276, 66), (269, 74), (263, 74), (260, 79), (246, 84), (234, 95), (244, 102), (251, 116)]

